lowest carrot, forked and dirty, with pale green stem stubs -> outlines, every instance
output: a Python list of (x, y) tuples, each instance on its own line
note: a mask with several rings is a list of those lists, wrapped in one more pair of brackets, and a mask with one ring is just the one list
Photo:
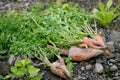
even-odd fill
[(53, 74), (56, 74), (57, 76), (64, 78), (65, 80), (72, 80), (72, 76), (64, 63), (64, 59), (62, 59), (58, 55), (57, 57), (59, 58), (59, 60), (53, 63), (51, 63), (45, 55), (40, 55), (37, 58), (43, 61), (43, 63), (45, 63), (47, 66), (49, 66), (50, 71)]

